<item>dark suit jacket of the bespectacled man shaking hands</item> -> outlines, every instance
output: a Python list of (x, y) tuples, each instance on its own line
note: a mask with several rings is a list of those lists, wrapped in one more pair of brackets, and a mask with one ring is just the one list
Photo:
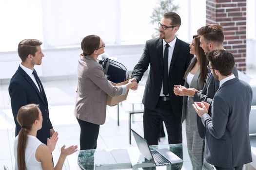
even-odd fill
[[(173, 87), (174, 85), (184, 85), (183, 76), (193, 58), (189, 51), (189, 44), (177, 38), (169, 69), (168, 90), (172, 112), (179, 116), (182, 113), (182, 97), (174, 94)], [(132, 72), (132, 77), (139, 82), (149, 64), (150, 70), (142, 103), (148, 109), (155, 109), (163, 81), (163, 40), (160, 38), (146, 42), (144, 52)]]

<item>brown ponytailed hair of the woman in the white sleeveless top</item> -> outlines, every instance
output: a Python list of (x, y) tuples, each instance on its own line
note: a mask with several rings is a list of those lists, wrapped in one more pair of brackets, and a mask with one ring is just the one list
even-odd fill
[(39, 119), (39, 105), (28, 104), (20, 107), (16, 119), (21, 126), (17, 147), (18, 169), (26, 170), (25, 148), (28, 139), (27, 135), (31, 131), (33, 123)]

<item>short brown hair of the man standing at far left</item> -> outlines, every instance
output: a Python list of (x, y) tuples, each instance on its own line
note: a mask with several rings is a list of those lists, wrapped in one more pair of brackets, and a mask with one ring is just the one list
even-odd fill
[(18, 54), (22, 62), (25, 62), (29, 54), (35, 56), (37, 46), (42, 45), (42, 42), (37, 39), (24, 39), (18, 45)]

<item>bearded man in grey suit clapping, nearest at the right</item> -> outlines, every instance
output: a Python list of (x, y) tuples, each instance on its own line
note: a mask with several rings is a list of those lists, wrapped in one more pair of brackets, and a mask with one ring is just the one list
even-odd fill
[(252, 162), (248, 127), (252, 88), (232, 73), (232, 53), (215, 50), (207, 57), (208, 68), (219, 80), (219, 89), (211, 105), (193, 104), (206, 128), (205, 159), (217, 170), (242, 170), (243, 164)]

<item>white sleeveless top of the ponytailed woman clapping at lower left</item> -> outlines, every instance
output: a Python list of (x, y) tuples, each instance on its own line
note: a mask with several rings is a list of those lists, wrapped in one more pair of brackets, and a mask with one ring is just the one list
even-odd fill
[[(17, 147), (19, 135), (14, 139), (15, 170), (18, 170)], [(36, 159), (36, 150), (42, 144), (36, 136), (28, 135), (27, 146), (25, 148), (25, 164), (27, 170), (42, 170), (42, 163)]]

